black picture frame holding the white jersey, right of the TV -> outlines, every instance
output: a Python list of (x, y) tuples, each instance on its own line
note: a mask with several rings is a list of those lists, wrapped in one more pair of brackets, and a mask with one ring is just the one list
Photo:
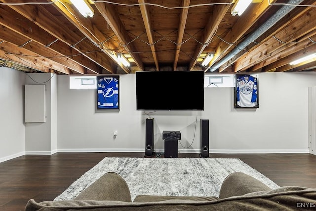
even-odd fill
[(259, 82), (257, 74), (234, 75), (234, 108), (259, 108)]

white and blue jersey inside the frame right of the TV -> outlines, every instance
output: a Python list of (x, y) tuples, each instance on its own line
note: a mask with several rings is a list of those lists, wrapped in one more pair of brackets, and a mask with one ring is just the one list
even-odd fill
[(257, 78), (244, 75), (236, 80), (237, 105), (241, 107), (254, 107), (257, 105)]

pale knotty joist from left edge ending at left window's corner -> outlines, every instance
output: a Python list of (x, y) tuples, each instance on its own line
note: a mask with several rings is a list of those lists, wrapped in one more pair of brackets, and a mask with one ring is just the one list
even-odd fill
[(49, 72), (49, 69), (54, 69), (61, 73), (71, 74), (71, 71), (65, 66), (50, 59), (42, 58), (40, 55), (35, 54), (32, 51), (20, 48), (8, 42), (2, 42), (0, 44), (0, 57), (4, 60), (12, 60), (18, 64), (25, 65), (42, 72)]

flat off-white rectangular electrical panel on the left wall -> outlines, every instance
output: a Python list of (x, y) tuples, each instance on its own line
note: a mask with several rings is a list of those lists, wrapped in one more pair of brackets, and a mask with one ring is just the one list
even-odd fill
[(46, 122), (45, 85), (25, 85), (25, 122)]

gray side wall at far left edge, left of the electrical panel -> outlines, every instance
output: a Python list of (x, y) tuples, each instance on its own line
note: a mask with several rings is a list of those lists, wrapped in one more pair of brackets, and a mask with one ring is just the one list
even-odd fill
[(24, 77), (0, 68), (0, 162), (25, 153)]

